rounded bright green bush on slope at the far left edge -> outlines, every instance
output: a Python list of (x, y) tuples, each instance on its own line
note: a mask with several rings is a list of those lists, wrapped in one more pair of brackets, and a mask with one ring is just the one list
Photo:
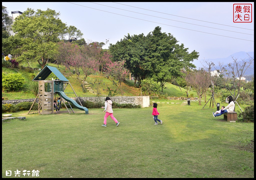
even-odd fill
[(2, 90), (18, 91), (22, 88), (24, 79), (19, 73), (2, 73)]

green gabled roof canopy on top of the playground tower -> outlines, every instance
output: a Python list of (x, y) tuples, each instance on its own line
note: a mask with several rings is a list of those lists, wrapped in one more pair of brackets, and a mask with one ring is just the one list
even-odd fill
[(57, 68), (51, 66), (45, 66), (33, 81), (45, 80), (51, 73), (54, 73), (60, 81), (69, 81)]

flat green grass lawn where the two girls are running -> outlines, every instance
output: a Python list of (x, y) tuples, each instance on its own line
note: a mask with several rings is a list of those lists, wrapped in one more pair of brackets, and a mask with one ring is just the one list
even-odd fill
[(254, 123), (215, 118), (204, 103), (169, 102), (157, 106), (162, 125), (153, 125), (152, 107), (113, 109), (118, 127), (110, 117), (101, 126), (103, 109), (13, 113), (26, 120), (2, 122), (2, 177), (16, 170), (38, 170), (39, 178), (254, 177)]

